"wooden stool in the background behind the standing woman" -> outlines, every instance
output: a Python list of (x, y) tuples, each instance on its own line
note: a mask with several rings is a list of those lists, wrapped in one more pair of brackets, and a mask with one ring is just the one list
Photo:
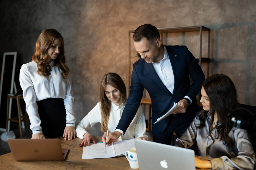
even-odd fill
[[(10, 98), (16, 98), (16, 100), (17, 100), (18, 117), (13, 117), (13, 118), (9, 119), (9, 101), (10, 101)], [(26, 121), (26, 123), (27, 123), (26, 125), (27, 125), (27, 128), (28, 128), (29, 118), (28, 118), (28, 114), (27, 114), (27, 111), (26, 111), (26, 104), (25, 104), (25, 115), (24, 116), (20, 115), (20, 99), (23, 99), (22, 94), (7, 94), (6, 132), (8, 130), (7, 129), (8, 128), (8, 121), (19, 123), (20, 138), (22, 138), (21, 122)], [(24, 118), (24, 119), (22, 119), (22, 118)]]

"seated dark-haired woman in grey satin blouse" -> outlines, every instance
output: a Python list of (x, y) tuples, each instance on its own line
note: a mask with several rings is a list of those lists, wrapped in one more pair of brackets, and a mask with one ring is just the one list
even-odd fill
[(255, 169), (255, 154), (247, 130), (227, 124), (227, 115), (238, 107), (237, 92), (230, 78), (215, 74), (202, 82), (199, 111), (175, 146), (189, 148), (197, 141), (198, 168)]

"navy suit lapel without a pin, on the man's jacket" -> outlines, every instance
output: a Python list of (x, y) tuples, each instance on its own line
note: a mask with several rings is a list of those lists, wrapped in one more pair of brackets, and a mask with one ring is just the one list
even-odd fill
[(161, 87), (167, 93), (171, 94), (171, 92), (165, 87), (163, 82), (159, 79), (159, 77), (156, 74), (155, 69), (153, 68), (152, 64), (151, 63), (146, 63), (146, 62), (144, 62), (143, 64), (144, 64), (144, 67), (145, 67), (147, 73), (150, 75), (151, 79), (153, 79), (159, 87)]

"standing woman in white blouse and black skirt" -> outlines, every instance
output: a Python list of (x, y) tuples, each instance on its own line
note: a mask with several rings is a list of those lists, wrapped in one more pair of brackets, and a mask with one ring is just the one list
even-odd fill
[(75, 137), (73, 90), (65, 64), (64, 41), (55, 29), (42, 31), (31, 62), (20, 69), (32, 139)]

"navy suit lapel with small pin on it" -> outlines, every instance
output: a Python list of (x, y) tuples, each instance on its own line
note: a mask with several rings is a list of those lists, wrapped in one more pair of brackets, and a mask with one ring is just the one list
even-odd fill
[(167, 53), (172, 65), (172, 69), (173, 69), (173, 75), (174, 75), (173, 93), (174, 93), (179, 81), (179, 56), (178, 56), (178, 52), (174, 51), (171, 46), (165, 46), (165, 48), (167, 50)]

